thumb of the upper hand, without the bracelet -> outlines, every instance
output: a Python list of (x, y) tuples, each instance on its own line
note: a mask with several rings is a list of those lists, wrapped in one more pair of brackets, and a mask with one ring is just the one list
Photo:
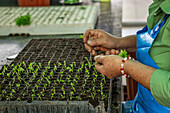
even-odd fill
[(99, 46), (99, 45), (103, 45), (103, 38), (95, 38), (95, 39), (91, 39), (87, 41), (87, 44), (89, 44), (90, 46)]

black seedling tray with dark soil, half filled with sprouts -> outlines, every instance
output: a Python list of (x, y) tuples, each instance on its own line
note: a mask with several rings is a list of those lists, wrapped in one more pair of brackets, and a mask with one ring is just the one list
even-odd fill
[(93, 62), (82, 39), (32, 39), (1, 69), (0, 112), (120, 112), (121, 80)]

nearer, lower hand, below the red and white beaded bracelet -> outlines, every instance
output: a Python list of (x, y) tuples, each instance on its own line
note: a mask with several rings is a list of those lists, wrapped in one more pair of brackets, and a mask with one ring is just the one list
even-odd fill
[(118, 55), (98, 55), (94, 57), (97, 62), (95, 68), (109, 79), (121, 75), (120, 67), (123, 58)]

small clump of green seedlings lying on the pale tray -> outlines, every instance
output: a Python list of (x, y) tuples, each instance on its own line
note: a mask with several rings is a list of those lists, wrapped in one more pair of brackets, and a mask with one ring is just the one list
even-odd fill
[(30, 25), (31, 24), (31, 15), (28, 13), (24, 16), (20, 16), (18, 18), (16, 18), (16, 25), (18, 26), (25, 26), (25, 25)]

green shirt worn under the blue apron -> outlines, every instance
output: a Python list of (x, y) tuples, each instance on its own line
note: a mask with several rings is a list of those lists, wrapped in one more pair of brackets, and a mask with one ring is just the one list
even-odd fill
[[(170, 14), (170, 0), (154, 0), (149, 7), (147, 26), (152, 29), (165, 13)], [(159, 104), (170, 107), (170, 17), (154, 40), (149, 54), (160, 68), (151, 76), (151, 93)]]

